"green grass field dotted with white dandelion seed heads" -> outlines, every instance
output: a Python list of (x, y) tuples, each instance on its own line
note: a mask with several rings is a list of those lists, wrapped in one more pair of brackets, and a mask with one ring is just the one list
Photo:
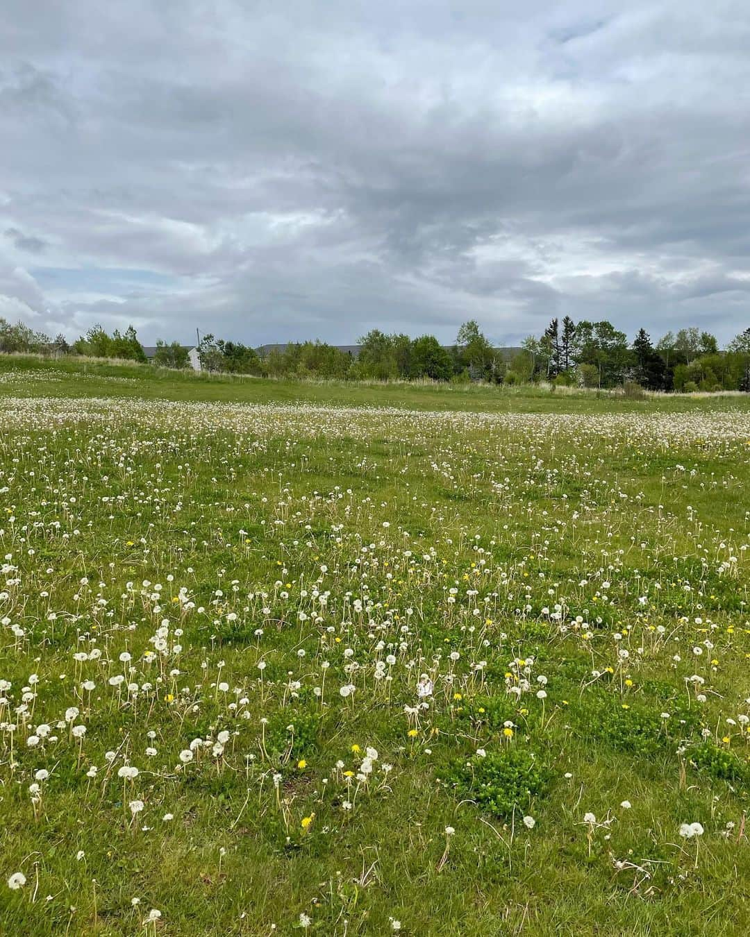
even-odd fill
[(0, 933), (750, 930), (744, 398), (5, 359), (0, 425)]

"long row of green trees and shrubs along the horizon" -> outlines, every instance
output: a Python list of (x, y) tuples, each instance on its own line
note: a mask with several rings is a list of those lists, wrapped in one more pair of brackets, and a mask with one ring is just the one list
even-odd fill
[[(709, 332), (697, 328), (667, 332), (655, 343), (639, 329), (632, 343), (611, 322), (553, 319), (544, 333), (530, 335), (508, 358), (492, 346), (475, 320), (464, 322), (455, 343), (441, 345), (434, 335), (386, 335), (372, 329), (359, 339), (354, 355), (321, 341), (274, 346), (268, 354), (241, 342), (204, 335), (197, 346), (203, 370), (263, 377), (318, 377), (470, 381), (524, 384), (549, 381), (568, 386), (613, 388), (627, 382), (654, 391), (750, 391), (750, 328), (724, 350)], [(0, 352), (78, 354), (145, 362), (132, 325), (108, 334), (92, 326), (72, 345), (64, 335), (52, 339), (19, 322), (0, 318)], [(155, 364), (187, 368), (188, 349), (159, 340)]]

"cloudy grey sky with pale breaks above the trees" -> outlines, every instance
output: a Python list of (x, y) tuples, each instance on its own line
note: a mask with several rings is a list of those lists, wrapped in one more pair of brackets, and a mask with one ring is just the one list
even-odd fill
[(750, 325), (747, 0), (3, 0), (0, 316)]

